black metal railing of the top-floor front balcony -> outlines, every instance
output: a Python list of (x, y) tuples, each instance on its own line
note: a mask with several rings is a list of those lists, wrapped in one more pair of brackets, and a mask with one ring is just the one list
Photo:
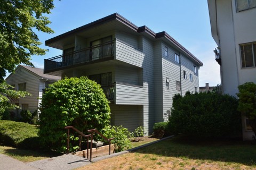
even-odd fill
[(114, 56), (114, 43), (115, 41), (113, 40), (109, 41), (108, 43), (76, 50), (73, 53), (45, 59), (44, 71), (47, 72), (50, 70), (58, 69), (60, 67), (86, 63)]

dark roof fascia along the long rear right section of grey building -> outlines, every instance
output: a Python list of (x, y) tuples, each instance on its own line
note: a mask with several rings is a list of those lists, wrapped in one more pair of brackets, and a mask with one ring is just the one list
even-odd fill
[(162, 37), (171, 41), (171, 43), (173, 43), (175, 46), (180, 48), (182, 50), (182, 52), (184, 52), (185, 54), (187, 54), (188, 56), (193, 58), (193, 60), (198, 62), (199, 66), (203, 66), (203, 63), (198, 58), (196, 58), (193, 54), (191, 54), (185, 47), (183, 47), (180, 43), (178, 43), (178, 41), (176, 41), (174, 38), (172, 38), (168, 33), (166, 33), (165, 31), (156, 33), (156, 38), (162, 38)]

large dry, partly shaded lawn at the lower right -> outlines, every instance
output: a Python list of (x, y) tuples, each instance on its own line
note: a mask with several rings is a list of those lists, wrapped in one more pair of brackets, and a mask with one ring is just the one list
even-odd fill
[(178, 136), (78, 169), (256, 169), (256, 145)]

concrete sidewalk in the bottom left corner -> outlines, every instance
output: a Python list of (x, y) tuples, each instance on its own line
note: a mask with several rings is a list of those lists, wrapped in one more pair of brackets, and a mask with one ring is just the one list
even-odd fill
[(7, 155), (0, 154), (0, 170), (38, 170), (38, 168), (13, 159)]

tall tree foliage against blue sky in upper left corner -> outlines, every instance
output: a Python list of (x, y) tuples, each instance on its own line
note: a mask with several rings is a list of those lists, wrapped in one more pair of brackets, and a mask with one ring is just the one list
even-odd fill
[(53, 0), (0, 0), (0, 83), (6, 71), (16, 65), (33, 66), (31, 55), (44, 55), (35, 29), (53, 33), (45, 16), (54, 7)]

